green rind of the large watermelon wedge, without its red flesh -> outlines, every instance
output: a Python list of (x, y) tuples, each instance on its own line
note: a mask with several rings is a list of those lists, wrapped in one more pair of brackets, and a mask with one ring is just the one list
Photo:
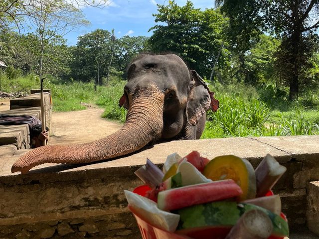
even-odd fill
[(241, 215), (253, 209), (259, 209), (267, 213), (274, 226), (272, 235), (279, 237), (289, 236), (288, 223), (284, 219), (267, 209), (253, 204), (237, 204), (236, 202), (219, 201), (183, 208), (174, 213), (180, 215), (177, 230), (184, 230), (207, 226), (232, 227)]

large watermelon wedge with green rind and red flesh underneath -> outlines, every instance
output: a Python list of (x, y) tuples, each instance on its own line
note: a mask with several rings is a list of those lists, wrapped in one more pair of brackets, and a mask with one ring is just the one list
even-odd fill
[(212, 202), (175, 211), (180, 215), (176, 233), (194, 239), (221, 239), (237, 223), (241, 215), (253, 209), (265, 212), (273, 223), (273, 236), (288, 237), (287, 222), (264, 208), (236, 202)]

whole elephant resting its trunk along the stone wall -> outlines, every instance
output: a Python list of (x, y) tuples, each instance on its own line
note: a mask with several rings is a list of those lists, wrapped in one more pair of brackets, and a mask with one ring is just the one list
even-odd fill
[(203, 79), (177, 55), (141, 54), (129, 65), (120, 107), (128, 110), (117, 132), (74, 145), (46, 145), (16, 160), (11, 172), (27, 173), (43, 163), (90, 163), (135, 152), (149, 143), (199, 139), (206, 112), (218, 100)]

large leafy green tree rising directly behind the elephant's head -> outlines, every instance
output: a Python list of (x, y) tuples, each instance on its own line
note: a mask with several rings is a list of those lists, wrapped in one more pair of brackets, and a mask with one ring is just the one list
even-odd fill
[[(224, 42), (223, 29), (227, 20), (216, 10), (195, 9), (191, 1), (178, 6), (174, 0), (168, 5), (158, 5), (154, 14), (157, 24), (150, 29), (151, 49), (154, 52), (175, 52), (186, 60), (189, 66), (209, 78), (218, 51)], [(224, 43), (226, 44), (226, 43)], [(226, 49), (221, 53), (219, 64), (225, 62)]]

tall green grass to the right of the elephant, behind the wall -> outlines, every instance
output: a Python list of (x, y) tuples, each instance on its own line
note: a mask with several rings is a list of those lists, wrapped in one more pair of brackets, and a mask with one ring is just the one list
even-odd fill
[[(266, 93), (245, 89), (240, 84), (214, 87), (220, 108), (207, 114), (209, 121), (202, 138), (319, 134), (317, 102), (303, 105), (309, 93), (302, 95), (300, 101), (288, 103), (282, 93), (275, 92), (271, 100), (265, 98), (269, 89), (274, 90), (272, 87), (266, 88)], [(311, 99), (317, 99), (318, 92), (312, 94), (315, 95)]]

